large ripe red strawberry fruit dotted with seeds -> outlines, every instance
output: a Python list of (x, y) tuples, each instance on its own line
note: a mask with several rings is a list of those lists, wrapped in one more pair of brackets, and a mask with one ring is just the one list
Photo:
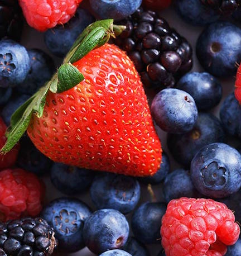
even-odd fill
[[(100, 37), (105, 40), (106, 36)], [(80, 38), (90, 44), (92, 37)], [(80, 42), (81, 49), (83, 44)], [(53, 89), (54, 77), (42, 97), (45, 105), (30, 115), (28, 135), (36, 148), (55, 162), (131, 176), (155, 174), (160, 168), (161, 144), (141, 79), (124, 51), (103, 42), (98, 46), (82, 58), (74, 54), (70, 58), (73, 65), (65, 63), (64, 68), (60, 67), (56, 82), (60, 92)], [(68, 70), (71, 73), (66, 75)], [(74, 72), (80, 74), (78, 82), (67, 91), (62, 90), (73, 82)], [(63, 77), (71, 80), (61, 83)], [(30, 99), (26, 111), (35, 105), (35, 99), (36, 96)], [(33, 108), (36, 110), (36, 106)], [(20, 108), (13, 115), (13, 124), (22, 112)], [(27, 112), (22, 115), (25, 116)], [(11, 127), (8, 140), (15, 128)]]

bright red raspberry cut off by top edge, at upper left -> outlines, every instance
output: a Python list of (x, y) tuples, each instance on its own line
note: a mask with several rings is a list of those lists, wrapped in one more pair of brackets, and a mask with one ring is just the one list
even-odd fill
[(19, 0), (28, 25), (45, 31), (74, 16), (82, 0)]

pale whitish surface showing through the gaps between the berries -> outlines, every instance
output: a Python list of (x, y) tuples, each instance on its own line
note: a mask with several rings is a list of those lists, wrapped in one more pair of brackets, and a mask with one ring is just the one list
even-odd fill
[[(168, 21), (168, 23), (170, 24), (171, 27), (174, 27), (177, 30), (177, 32), (179, 32), (182, 36), (186, 37), (186, 39), (191, 43), (192, 49), (194, 50), (194, 53), (193, 53), (194, 68), (192, 69), (192, 71), (204, 71), (200, 67), (200, 65), (196, 59), (196, 55), (195, 55), (196, 40), (197, 40), (197, 37), (199, 36), (200, 32), (203, 30), (203, 28), (187, 25), (187, 23), (182, 21), (181, 18), (179, 16), (177, 16), (176, 12), (173, 10), (172, 7), (168, 8), (165, 11), (162, 11), (162, 16), (164, 18), (166, 18), (166, 20)], [(47, 50), (45, 43), (44, 43), (43, 34), (31, 29), (28, 26), (26, 26), (25, 30), (23, 31), (22, 44), (25, 45), (26, 48), (28, 48), (28, 49), (37, 48), (37, 49), (42, 49), (42, 50), (46, 51), (47, 53), (49, 53), (49, 51)], [(52, 55), (52, 57), (55, 60), (56, 65), (60, 63), (60, 61), (61, 61), (60, 59), (56, 58), (53, 55)], [(221, 81), (222, 85), (223, 85), (223, 99), (228, 93), (230, 93), (234, 90), (234, 81), (235, 81), (234, 78), (230, 78), (228, 80)], [(223, 101), (223, 99), (222, 99), (222, 101)], [(218, 111), (219, 106), (211, 111), (211, 112), (215, 113), (217, 116), (219, 116), (219, 111)], [(167, 146), (166, 146), (166, 134), (165, 134), (165, 132), (160, 131), (160, 129), (157, 129), (157, 130), (158, 130), (158, 134), (160, 135), (160, 138), (161, 138), (162, 147), (168, 153)], [(170, 156), (170, 154), (168, 154), (168, 155)], [(171, 169), (173, 170), (177, 167), (177, 164), (173, 161), (173, 159), (171, 157), (170, 157), (170, 160), (171, 160)], [(54, 198), (64, 196), (51, 185), (48, 177), (46, 177), (44, 180), (45, 180), (45, 184), (46, 184), (46, 203), (50, 202)], [(161, 186), (155, 186), (155, 187), (153, 187), (153, 189), (156, 192), (157, 199), (161, 200), (161, 197), (162, 197), (161, 196), (162, 195)], [(84, 201), (91, 208), (94, 209), (94, 206), (91, 203), (88, 192), (83, 193), (81, 195), (76, 195), (76, 197), (80, 198), (82, 201)], [(150, 200), (151, 200), (151, 198), (148, 195), (147, 187), (142, 186), (141, 200), (139, 203), (150, 201)], [(128, 219), (130, 219), (130, 217), (131, 216), (127, 216)], [(151, 256), (156, 256), (161, 249), (161, 245), (159, 245), (159, 244), (151, 245), (151, 246), (148, 246), (148, 249), (150, 250)], [(55, 255), (59, 255), (59, 256), (60, 255), (61, 256), (64, 256), (64, 255), (65, 256), (68, 256), (68, 255), (93, 256), (94, 254), (92, 254), (91, 252), (89, 252), (88, 249), (85, 248), (85, 249), (83, 249), (77, 253), (73, 253), (73, 254), (56, 253)]]

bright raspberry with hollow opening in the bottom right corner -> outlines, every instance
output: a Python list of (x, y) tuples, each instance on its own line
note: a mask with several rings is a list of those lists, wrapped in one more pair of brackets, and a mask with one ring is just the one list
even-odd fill
[(162, 218), (162, 246), (167, 256), (223, 256), (240, 228), (224, 203), (204, 198), (171, 200)]

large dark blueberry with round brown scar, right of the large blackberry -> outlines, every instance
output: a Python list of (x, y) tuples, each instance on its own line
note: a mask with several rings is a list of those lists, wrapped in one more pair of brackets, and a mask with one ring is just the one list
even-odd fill
[(197, 39), (196, 55), (210, 74), (232, 77), (241, 61), (241, 29), (229, 22), (212, 23)]

